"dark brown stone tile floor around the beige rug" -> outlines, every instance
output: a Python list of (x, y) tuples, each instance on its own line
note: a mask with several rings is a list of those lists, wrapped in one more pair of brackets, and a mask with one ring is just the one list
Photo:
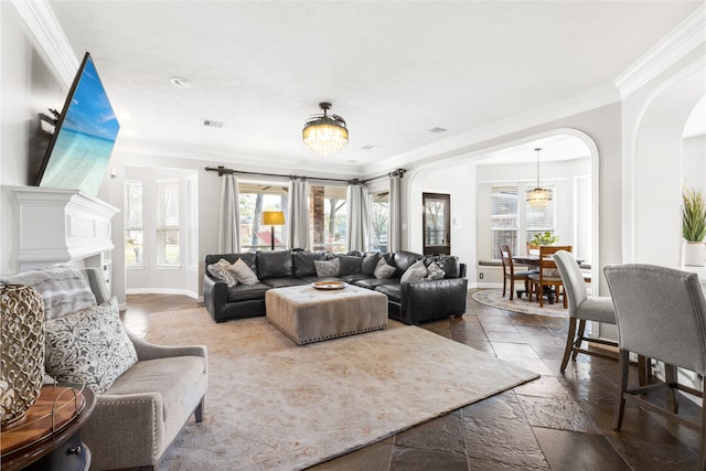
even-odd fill
[[(124, 319), (138, 332), (145, 331), (149, 312), (197, 306), (172, 295), (135, 295), (127, 301)], [(469, 296), (462, 318), (421, 327), (542, 377), (311, 470), (695, 469), (694, 430), (630, 403), (622, 429), (612, 430), (616, 362), (579, 355), (559, 373), (567, 324), (566, 319), (490, 308)], [(699, 408), (681, 398), (680, 414), (697, 416)]]

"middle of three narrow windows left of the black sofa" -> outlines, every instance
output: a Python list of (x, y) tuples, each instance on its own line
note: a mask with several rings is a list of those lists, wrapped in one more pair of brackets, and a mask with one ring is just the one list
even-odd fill
[(157, 265), (179, 266), (179, 181), (157, 181)]

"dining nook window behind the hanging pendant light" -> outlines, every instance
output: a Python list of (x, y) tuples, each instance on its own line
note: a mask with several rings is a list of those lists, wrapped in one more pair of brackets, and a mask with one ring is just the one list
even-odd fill
[[(507, 244), (513, 254), (523, 254), (525, 244), (535, 234), (555, 231), (556, 191), (553, 185), (543, 185), (554, 193), (555, 200), (543, 210), (528, 207), (524, 200), (526, 185), (498, 184), (491, 186), (491, 255), (501, 258), (498, 244)], [(518, 197), (522, 195), (523, 197)]]

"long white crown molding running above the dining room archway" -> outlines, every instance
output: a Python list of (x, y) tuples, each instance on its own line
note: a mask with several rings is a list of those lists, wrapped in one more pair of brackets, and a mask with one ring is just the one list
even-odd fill
[(620, 101), (620, 93), (613, 84), (591, 88), (568, 98), (517, 114), (510, 118), (472, 129), (429, 146), (395, 156), (391, 159), (364, 165), (366, 174), (379, 173), (384, 169), (449, 158), (469, 152), (469, 147), (479, 142), (507, 136), (545, 122), (578, 115)]

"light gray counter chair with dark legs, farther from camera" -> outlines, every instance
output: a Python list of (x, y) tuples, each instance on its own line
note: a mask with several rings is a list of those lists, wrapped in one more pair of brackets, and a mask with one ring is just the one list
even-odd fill
[(616, 323), (616, 310), (612, 298), (609, 296), (588, 296), (584, 274), (576, 258), (574, 258), (574, 255), (569, 251), (557, 251), (554, 254), (554, 261), (561, 276), (564, 293), (569, 298), (569, 332), (566, 338), (566, 347), (564, 349), (564, 358), (561, 360), (559, 371), (564, 373), (571, 354), (574, 354), (574, 360), (576, 360), (579, 353), (598, 356), (600, 358), (618, 360), (614, 353), (609, 353), (608, 351), (603, 353), (599, 350), (581, 347), (582, 343), (588, 341), (601, 345), (618, 346), (618, 342), (585, 336), (586, 321), (603, 322), (607, 324)]

